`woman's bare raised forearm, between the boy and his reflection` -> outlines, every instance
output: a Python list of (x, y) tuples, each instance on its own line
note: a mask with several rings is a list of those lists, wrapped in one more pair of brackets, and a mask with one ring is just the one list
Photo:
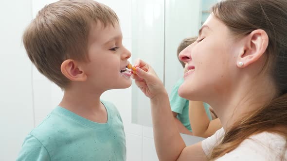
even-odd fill
[(160, 161), (176, 161), (186, 147), (177, 129), (167, 93), (151, 99), (156, 151)]

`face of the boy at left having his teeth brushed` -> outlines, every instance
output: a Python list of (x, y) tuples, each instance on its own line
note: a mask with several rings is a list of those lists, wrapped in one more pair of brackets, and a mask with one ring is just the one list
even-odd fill
[(131, 73), (123, 72), (129, 64), (131, 53), (122, 44), (122, 31), (119, 24), (103, 27), (93, 25), (89, 38), (89, 59), (85, 65), (87, 83), (103, 91), (127, 88), (131, 85)]

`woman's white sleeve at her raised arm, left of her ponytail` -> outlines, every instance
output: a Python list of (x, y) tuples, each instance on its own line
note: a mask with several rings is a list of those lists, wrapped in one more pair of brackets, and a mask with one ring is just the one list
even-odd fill
[(221, 128), (221, 129), (218, 129), (215, 132), (215, 134), (213, 134), (212, 136), (210, 136), (210, 137), (208, 137), (202, 141), (201, 146), (202, 146), (202, 149), (203, 149), (205, 155), (209, 155), (209, 153), (213, 149), (213, 147), (220, 143), (224, 134), (225, 134), (224, 129)]

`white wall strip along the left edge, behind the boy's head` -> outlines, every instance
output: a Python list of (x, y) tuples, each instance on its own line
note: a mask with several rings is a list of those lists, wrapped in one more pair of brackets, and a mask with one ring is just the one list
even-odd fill
[[(16, 12), (17, 11), (17, 12)], [(30, 22), (29, 0), (2, 0), (0, 5), (0, 160), (15, 160), (34, 126), (32, 64), (21, 45)]]

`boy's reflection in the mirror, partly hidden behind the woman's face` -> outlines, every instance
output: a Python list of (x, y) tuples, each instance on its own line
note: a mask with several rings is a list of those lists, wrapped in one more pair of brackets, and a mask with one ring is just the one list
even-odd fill
[[(197, 40), (197, 37), (189, 37), (189, 38), (183, 39), (181, 43), (179, 44), (179, 47), (177, 50), (177, 56), (179, 57), (179, 53), (184, 48), (194, 43), (196, 40)], [(181, 62), (180, 60), (179, 62), (184, 68), (185, 66), (184, 62)], [(184, 81), (183, 78), (180, 78), (179, 81), (177, 81), (176, 84), (174, 85), (171, 95), (170, 95), (170, 106), (171, 106), (171, 110), (172, 110), (174, 119), (176, 121), (177, 127), (179, 129), (179, 132), (193, 135), (192, 127), (189, 121), (189, 114), (188, 114), (189, 113), (188, 112), (189, 100), (179, 97), (179, 94), (178, 94), (179, 86), (183, 83), (183, 81)], [(204, 103), (204, 109), (209, 119), (212, 119), (210, 111), (209, 111), (209, 105)]]

